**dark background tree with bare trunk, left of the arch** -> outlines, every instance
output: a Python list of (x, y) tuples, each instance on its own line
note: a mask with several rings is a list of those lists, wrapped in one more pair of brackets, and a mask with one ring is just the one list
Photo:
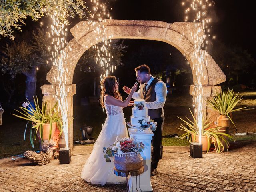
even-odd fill
[(43, 28), (37, 28), (32, 32), (32, 41), (12, 41), (6, 44), (2, 51), (0, 67), (4, 74), (15, 78), (17, 74), (26, 76), (25, 96), (32, 103), (33, 96), (36, 96), (36, 74), (41, 66), (48, 65), (50, 57), (48, 53), (48, 38)]

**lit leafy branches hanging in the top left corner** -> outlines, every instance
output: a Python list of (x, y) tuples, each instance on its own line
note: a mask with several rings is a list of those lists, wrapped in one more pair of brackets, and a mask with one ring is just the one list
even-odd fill
[(21, 24), (30, 16), (36, 21), (44, 15), (54, 13), (62, 23), (68, 23), (67, 18), (76, 14), (80, 18), (88, 12), (84, 0), (2, 0), (0, 2), (0, 35), (14, 38), (13, 27), (21, 31)]

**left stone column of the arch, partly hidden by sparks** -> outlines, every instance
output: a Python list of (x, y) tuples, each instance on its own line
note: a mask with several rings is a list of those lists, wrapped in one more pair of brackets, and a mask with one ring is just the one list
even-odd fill
[[(60, 99), (60, 91), (57, 85), (45, 84), (41, 87), (43, 102), (54, 105)], [(67, 116), (68, 116), (68, 146), (73, 148), (73, 95), (76, 94), (76, 84), (65, 85), (67, 96)], [(57, 97), (57, 100), (56, 100)]]

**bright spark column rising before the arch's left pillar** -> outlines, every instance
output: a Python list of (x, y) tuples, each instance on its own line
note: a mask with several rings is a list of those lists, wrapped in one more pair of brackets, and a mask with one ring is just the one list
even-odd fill
[[(46, 9), (48, 11), (46, 11)], [(48, 37), (51, 38), (51, 45), (48, 46), (49, 52), (52, 54), (50, 62), (52, 63), (52, 69), (57, 71), (56, 76), (54, 76), (56, 87), (55, 99), (58, 100), (59, 110), (62, 118), (62, 128), (63, 134), (66, 142), (66, 147), (68, 148), (68, 94), (70, 89), (67, 87), (67, 74), (68, 68), (66, 68), (66, 55), (64, 48), (67, 45), (66, 36), (68, 25), (68, 17), (74, 18), (77, 14), (80, 19), (86, 17), (86, 12), (90, 14), (88, 8), (85, 6), (85, 1), (49, 1), (49, 6), (44, 8), (44, 12), (51, 13), (50, 19), (52, 24), (47, 26), (50, 28), (48, 32)], [(42, 23), (41, 23), (42, 25)], [(67, 48), (68, 49), (68, 48)], [(70, 50), (72, 50), (70, 48)], [(48, 61), (47, 61), (48, 63)], [(69, 83), (69, 82), (68, 82)]]

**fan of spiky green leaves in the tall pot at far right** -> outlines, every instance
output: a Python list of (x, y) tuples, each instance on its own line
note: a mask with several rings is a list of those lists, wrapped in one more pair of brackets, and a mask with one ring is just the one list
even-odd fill
[(242, 95), (240, 95), (239, 93), (234, 95), (234, 90), (228, 89), (224, 92), (222, 91), (220, 94), (217, 94), (216, 96), (213, 96), (212, 99), (208, 101), (208, 106), (212, 108), (214, 111), (218, 112), (220, 115), (228, 116), (232, 124), (236, 127), (230, 116), (230, 113), (242, 110), (250, 110), (246, 109), (247, 107), (235, 109), (238, 102), (240, 102), (242, 99)]

